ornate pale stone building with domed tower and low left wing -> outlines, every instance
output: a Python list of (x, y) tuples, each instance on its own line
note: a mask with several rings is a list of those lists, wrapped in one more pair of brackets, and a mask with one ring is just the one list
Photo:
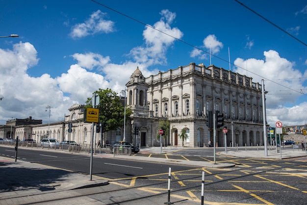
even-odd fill
[[(170, 122), (169, 136), (163, 139), (163, 145), (203, 147), (209, 139), (213, 142), (213, 129), (206, 126), (208, 111), (218, 110), (224, 114), (228, 145), (230, 141), (238, 146), (263, 145), (261, 94), (261, 85), (253, 82), (252, 77), (214, 65), (190, 63), (150, 77), (144, 77), (137, 68), (126, 84), (126, 97), (121, 98), (133, 114), (125, 126), (103, 133), (103, 142), (125, 138), (142, 147), (160, 146), (159, 120), (163, 119)], [(83, 105), (74, 104), (68, 110), (63, 121), (50, 125), (16, 125), (15, 134), (37, 142), (50, 137), (90, 144), (92, 123), (84, 123)], [(69, 124), (72, 124), (71, 132)], [(138, 135), (134, 132), (136, 127)], [(222, 128), (216, 130), (217, 146), (225, 146)], [(180, 138), (182, 129), (188, 136), (184, 141)], [(97, 142), (100, 134), (96, 128), (94, 131)]]

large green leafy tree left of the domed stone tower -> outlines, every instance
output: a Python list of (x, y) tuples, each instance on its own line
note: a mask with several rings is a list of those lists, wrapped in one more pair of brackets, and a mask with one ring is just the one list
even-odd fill
[[(120, 98), (116, 92), (107, 88), (105, 90), (99, 88), (93, 93), (99, 95), (99, 122), (103, 122), (103, 132), (116, 130), (124, 125), (125, 107), (120, 102)], [(85, 102), (85, 108), (93, 107), (92, 98), (88, 98)], [(132, 114), (129, 107), (126, 107), (126, 122), (127, 118)]]

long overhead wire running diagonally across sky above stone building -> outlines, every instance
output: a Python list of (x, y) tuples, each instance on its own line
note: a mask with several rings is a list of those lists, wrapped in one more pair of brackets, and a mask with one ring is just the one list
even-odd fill
[[(114, 12), (120, 14), (120, 15), (123, 15), (123, 16), (125, 16), (125, 17), (127, 17), (127, 18), (129, 18), (129, 19), (131, 19), (131, 20), (133, 20), (133, 21), (136, 21), (136, 22), (138, 22), (138, 23), (140, 23), (140, 24), (142, 24), (142, 25), (144, 25), (144, 26), (148, 26), (148, 27), (150, 27), (150, 28), (153, 28), (154, 30), (159, 31), (159, 32), (161, 32), (161, 33), (163, 33), (163, 34), (165, 34), (165, 35), (171, 37), (171, 38), (174, 38), (174, 39), (180, 41), (181, 43), (184, 43), (184, 44), (186, 44), (186, 45), (188, 45), (188, 46), (191, 46), (191, 47), (193, 47), (193, 48), (195, 48), (195, 49), (198, 49), (198, 50), (200, 50), (200, 51), (203, 51), (203, 52), (205, 52), (205, 53), (207, 53), (207, 54), (210, 54), (211, 56), (214, 56), (214, 57), (216, 57), (216, 58), (218, 58), (218, 59), (220, 59), (220, 60), (222, 60), (222, 61), (225, 61), (225, 62), (227, 62), (227, 63), (230, 63), (230, 64), (233, 65), (233, 66), (236, 66), (236, 67), (241, 68), (241, 69), (243, 69), (243, 70), (245, 70), (245, 71), (248, 71), (247, 69), (242, 68), (242, 67), (240, 67), (240, 66), (238, 66), (238, 65), (235, 65), (235, 64), (229, 62), (228, 60), (225, 60), (225, 59), (223, 59), (223, 58), (221, 58), (221, 57), (218, 57), (218, 56), (216, 56), (216, 55), (214, 55), (214, 54), (212, 54), (212, 53), (209, 53), (208, 51), (205, 51), (205, 50), (203, 50), (203, 49), (200, 49), (200, 48), (198, 48), (198, 47), (196, 47), (196, 46), (194, 46), (194, 45), (192, 45), (192, 44), (190, 44), (190, 43), (187, 43), (187, 42), (185, 42), (185, 41), (183, 41), (183, 40), (181, 40), (181, 39), (179, 39), (179, 38), (176, 38), (176, 37), (174, 37), (174, 36), (172, 36), (172, 35), (170, 35), (170, 34), (168, 34), (168, 33), (165, 33), (165, 32), (163, 32), (163, 31), (161, 31), (161, 30), (159, 30), (159, 29), (157, 29), (157, 28), (155, 28), (155, 27), (153, 27), (153, 26), (150, 26), (150, 25), (148, 25), (148, 24), (145, 24), (145, 23), (143, 23), (143, 22), (141, 22), (141, 21), (139, 21), (139, 20), (137, 20), (137, 19), (134, 19), (134, 18), (132, 18), (132, 17), (130, 17), (130, 16), (128, 16), (128, 15), (126, 15), (126, 14), (120, 12), (120, 11), (117, 11), (117, 10), (115, 10), (115, 9), (113, 9), (113, 8), (110, 8), (110, 7), (104, 5), (104, 4), (102, 4), (102, 3), (100, 3), (100, 2), (98, 2), (98, 1), (96, 1), (96, 0), (91, 0), (91, 1), (93, 1), (93, 2), (95, 2), (95, 3), (97, 3), (97, 4), (99, 4), (99, 5), (101, 5), (101, 6), (105, 7), (105, 8), (107, 8), (107, 9), (110, 9), (110, 10), (112, 10), (112, 11), (114, 11)], [(254, 74), (254, 75), (258, 76), (258, 77), (261, 77), (261, 78), (263, 78), (263, 79), (265, 79), (265, 80), (274, 82), (274, 83), (276, 83), (276, 84), (278, 84), (278, 85), (280, 85), (280, 86), (282, 86), (282, 87), (285, 87), (285, 88), (287, 88), (287, 89), (289, 89), (289, 90), (292, 90), (292, 91), (294, 91), (294, 92), (297, 92), (297, 93), (302, 94), (301, 92), (298, 92), (298, 91), (296, 91), (296, 90), (294, 90), (294, 89), (291, 89), (291, 88), (289, 88), (289, 87), (286, 87), (286, 86), (284, 86), (284, 85), (282, 85), (282, 84), (280, 84), (280, 83), (277, 83), (277, 82), (275, 82), (275, 81), (273, 81), (273, 80), (271, 80), (271, 79), (268, 79), (268, 78), (266, 78), (266, 77), (262, 77), (262, 76), (260, 76), (260, 75), (258, 75), (258, 74), (256, 74), (256, 73), (254, 73), (254, 72), (251, 72), (251, 71), (248, 71), (248, 72), (250, 72), (250, 73), (252, 73), (252, 74)], [(306, 95), (306, 94), (303, 93), (303, 95)]]

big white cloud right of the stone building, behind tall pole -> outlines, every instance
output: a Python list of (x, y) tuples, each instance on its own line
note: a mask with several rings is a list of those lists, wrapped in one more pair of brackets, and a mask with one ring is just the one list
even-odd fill
[[(253, 77), (254, 82), (260, 82), (264, 79), (266, 94), (267, 121), (275, 126), (277, 119), (284, 122), (293, 122), (295, 116), (293, 113), (298, 110), (304, 110), (306, 103), (302, 103), (299, 107), (286, 107), (285, 103), (295, 103), (302, 96), (299, 92), (303, 82), (299, 82), (298, 78), (303, 77), (303, 74), (295, 69), (295, 63), (281, 58), (277, 51), (264, 51), (264, 60), (258, 59), (241, 59), (237, 58), (234, 64), (240, 68), (236, 68), (234, 72), (245, 74), (248, 77)], [(255, 75), (257, 74), (257, 75)], [(269, 79), (269, 80), (266, 80)], [(277, 105), (280, 105), (276, 108)], [(303, 107), (302, 107), (303, 106)], [(296, 115), (295, 122), (303, 123), (306, 119), (303, 112)], [(292, 120), (292, 121), (291, 121)], [(292, 123), (293, 124), (293, 123)]]

